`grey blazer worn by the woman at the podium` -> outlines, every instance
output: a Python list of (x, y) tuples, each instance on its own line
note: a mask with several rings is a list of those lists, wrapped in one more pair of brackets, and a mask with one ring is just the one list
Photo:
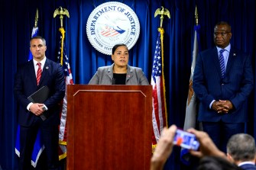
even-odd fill
[[(113, 66), (114, 64), (99, 67), (96, 74), (89, 81), (89, 85), (112, 85)], [(149, 85), (149, 83), (141, 68), (128, 66), (126, 85)]]

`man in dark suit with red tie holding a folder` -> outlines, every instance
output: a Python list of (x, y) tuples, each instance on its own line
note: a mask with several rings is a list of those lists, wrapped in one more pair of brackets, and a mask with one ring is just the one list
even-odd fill
[[(15, 95), (19, 103), (18, 123), (21, 127), (19, 168), (31, 169), (31, 153), (40, 129), (47, 156), (44, 164), (47, 169), (57, 169), (60, 101), (65, 95), (63, 69), (60, 64), (46, 58), (47, 46), (43, 37), (31, 38), (30, 45), (33, 60), (20, 66), (15, 77)], [(39, 75), (37, 71), (40, 67)], [(32, 103), (28, 100), (28, 96), (45, 85), (50, 89), (50, 95), (44, 103)], [(42, 115), (46, 117), (45, 120)]]

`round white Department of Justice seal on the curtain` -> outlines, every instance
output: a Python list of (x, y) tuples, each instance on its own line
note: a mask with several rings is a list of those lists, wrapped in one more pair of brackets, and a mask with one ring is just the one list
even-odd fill
[(134, 46), (140, 34), (140, 23), (128, 5), (105, 2), (89, 15), (86, 34), (92, 47), (111, 55), (117, 43), (125, 43), (128, 50)]

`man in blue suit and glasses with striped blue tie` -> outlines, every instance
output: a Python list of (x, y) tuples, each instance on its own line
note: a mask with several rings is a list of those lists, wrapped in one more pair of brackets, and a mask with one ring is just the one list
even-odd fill
[(213, 37), (216, 47), (197, 56), (193, 89), (200, 101), (198, 120), (203, 130), (225, 152), (228, 139), (245, 130), (254, 75), (249, 56), (230, 45), (228, 23), (216, 24)]

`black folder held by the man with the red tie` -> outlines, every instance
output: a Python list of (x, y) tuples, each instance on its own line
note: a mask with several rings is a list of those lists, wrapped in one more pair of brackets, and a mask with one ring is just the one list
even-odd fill
[[(35, 91), (32, 95), (28, 96), (28, 100), (33, 103), (44, 103), (50, 96), (50, 89), (47, 85), (43, 86), (39, 90)], [(46, 120), (47, 117), (44, 114), (40, 115), (42, 120)]]

